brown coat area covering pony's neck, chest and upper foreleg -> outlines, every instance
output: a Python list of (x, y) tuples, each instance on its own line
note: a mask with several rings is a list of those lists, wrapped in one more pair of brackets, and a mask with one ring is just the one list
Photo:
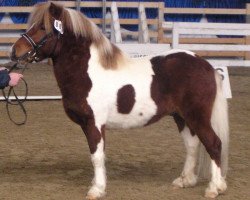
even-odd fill
[(104, 126), (101, 133), (95, 126), (95, 118), (87, 97), (92, 88), (88, 75), (90, 59), (90, 41), (74, 38), (65, 33), (63, 42), (58, 44), (60, 54), (53, 58), (54, 73), (63, 97), (66, 114), (84, 131), (91, 154), (95, 153), (97, 144), (104, 138)]

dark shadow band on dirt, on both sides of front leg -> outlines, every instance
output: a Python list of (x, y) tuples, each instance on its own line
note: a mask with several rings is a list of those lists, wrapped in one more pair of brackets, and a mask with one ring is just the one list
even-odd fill
[[(170, 161), (150, 160), (143, 162), (120, 162), (111, 158), (106, 162), (108, 180), (128, 182), (165, 182), (176, 178), (181, 172), (182, 164)], [(9, 182), (70, 182), (72, 185), (89, 186), (93, 178), (90, 160), (70, 162), (66, 160), (51, 162), (16, 161), (0, 168), (1, 177), (8, 176)], [(34, 177), (38, 177), (34, 180)], [(20, 178), (22, 177), (22, 178)], [(31, 177), (31, 178), (29, 178)]]

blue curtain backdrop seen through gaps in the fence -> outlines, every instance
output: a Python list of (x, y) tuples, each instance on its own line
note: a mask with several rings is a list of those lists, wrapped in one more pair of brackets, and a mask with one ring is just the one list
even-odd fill
[[(47, 0), (0, 0), (0, 6), (30, 6), (37, 2), (44, 2)], [(82, 1), (101, 1), (101, 0), (82, 0)], [(112, 0), (107, 0), (112, 1)], [(141, 1), (141, 2), (155, 2), (153, 0), (120, 0), (120, 1)], [(159, 2), (159, 1), (157, 1)], [(244, 8), (250, 0), (164, 0), (167, 7), (186, 7), (186, 8)], [(90, 18), (101, 18), (101, 8), (81, 8), (81, 11)], [(146, 9), (147, 18), (156, 18), (157, 9)], [(0, 21), (4, 13), (0, 13)], [(11, 13), (11, 19), (14, 23), (26, 23), (28, 20), (28, 13)], [(138, 10), (130, 8), (119, 9), (120, 18), (138, 18)], [(190, 21), (198, 22), (201, 15), (165, 15), (167, 21)], [(209, 22), (245, 22), (245, 16), (223, 16), (223, 15), (207, 15)], [(138, 26), (124, 26), (129, 30), (137, 30)]]

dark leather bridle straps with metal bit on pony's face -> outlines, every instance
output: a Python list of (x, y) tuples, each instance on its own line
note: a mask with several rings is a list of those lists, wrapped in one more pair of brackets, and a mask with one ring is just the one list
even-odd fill
[[(42, 39), (38, 43), (35, 43), (35, 41), (27, 33), (22, 34), (21, 37), (23, 37), (26, 41), (29, 42), (29, 44), (32, 46), (32, 49), (28, 51), (27, 53), (25, 53), (23, 56), (19, 57), (18, 61), (27, 59), (30, 62), (32, 62), (33, 60), (38, 62), (39, 61), (39, 57), (37, 57), (38, 50), (47, 42), (48, 38), (50, 38), (51, 36), (53, 36), (52, 32), (42, 37)], [(59, 37), (60, 37), (60, 34), (58, 33), (57, 40), (54, 44), (54, 47), (52, 48), (51, 53), (49, 54), (49, 57), (53, 55), (56, 49)]]

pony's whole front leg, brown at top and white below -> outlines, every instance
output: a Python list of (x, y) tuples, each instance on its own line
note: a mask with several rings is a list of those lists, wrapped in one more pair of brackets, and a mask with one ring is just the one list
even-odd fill
[(106, 169), (105, 169), (105, 135), (104, 125), (96, 125), (95, 120), (88, 120), (82, 126), (87, 137), (91, 160), (94, 167), (94, 179), (87, 194), (87, 199), (98, 199), (105, 195), (106, 189)]

